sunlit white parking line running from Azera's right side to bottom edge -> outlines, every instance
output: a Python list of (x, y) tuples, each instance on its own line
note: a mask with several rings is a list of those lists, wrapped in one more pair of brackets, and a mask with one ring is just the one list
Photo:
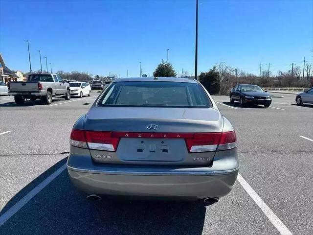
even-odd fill
[(251, 188), (251, 186), (246, 182), (246, 180), (238, 174), (237, 180), (241, 186), (246, 190), (253, 201), (258, 205), (258, 207), (263, 211), (263, 213), (268, 217), (269, 221), (275, 226), (281, 235), (292, 235), (289, 229), (283, 224), (283, 222), (270, 210), (268, 205), (262, 200), (262, 198)]

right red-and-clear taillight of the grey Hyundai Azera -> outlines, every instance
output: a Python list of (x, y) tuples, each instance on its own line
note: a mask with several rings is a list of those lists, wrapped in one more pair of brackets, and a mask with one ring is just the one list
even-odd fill
[(192, 139), (186, 139), (186, 144), (189, 153), (221, 151), (237, 146), (235, 131), (196, 133)]

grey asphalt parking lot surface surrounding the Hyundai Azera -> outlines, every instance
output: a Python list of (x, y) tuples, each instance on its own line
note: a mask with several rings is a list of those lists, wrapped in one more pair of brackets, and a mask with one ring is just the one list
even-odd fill
[(90, 202), (64, 164), (70, 130), (98, 94), (24, 106), (0, 97), (1, 235), (313, 234), (313, 105), (293, 94), (272, 94), (284, 97), (268, 109), (213, 96), (237, 132), (242, 176), (216, 204)]

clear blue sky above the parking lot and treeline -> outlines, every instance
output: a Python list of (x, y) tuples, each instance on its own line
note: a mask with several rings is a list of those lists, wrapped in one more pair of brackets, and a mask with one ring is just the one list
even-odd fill
[[(125, 77), (152, 75), (169, 60), (192, 73), (195, 0), (28, 1), (0, 0), (0, 52), (12, 70), (88, 71)], [(258, 64), (288, 70), (312, 63), (313, 1), (199, 0), (198, 71), (216, 62), (258, 74)]]

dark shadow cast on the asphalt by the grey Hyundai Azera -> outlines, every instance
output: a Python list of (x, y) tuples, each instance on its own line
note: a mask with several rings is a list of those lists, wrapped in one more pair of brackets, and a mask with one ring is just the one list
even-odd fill
[[(50, 167), (17, 193), (0, 214), (35, 188), (66, 159)], [(170, 234), (201, 235), (206, 208), (199, 202), (88, 201), (74, 188), (64, 170), (1, 227), (1, 235), (14, 234)]]

